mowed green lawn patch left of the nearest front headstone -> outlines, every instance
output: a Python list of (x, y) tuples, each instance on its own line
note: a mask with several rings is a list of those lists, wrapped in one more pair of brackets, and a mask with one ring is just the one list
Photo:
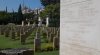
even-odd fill
[(34, 44), (28, 44), (33, 40), (28, 40), (26, 45), (21, 45), (20, 40), (12, 40), (10, 37), (0, 35), (0, 48), (33, 48)]

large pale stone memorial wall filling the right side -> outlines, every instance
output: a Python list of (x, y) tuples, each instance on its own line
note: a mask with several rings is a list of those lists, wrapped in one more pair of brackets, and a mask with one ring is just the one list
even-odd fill
[(61, 0), (60, 55), (100, 55), (100, 0)]

